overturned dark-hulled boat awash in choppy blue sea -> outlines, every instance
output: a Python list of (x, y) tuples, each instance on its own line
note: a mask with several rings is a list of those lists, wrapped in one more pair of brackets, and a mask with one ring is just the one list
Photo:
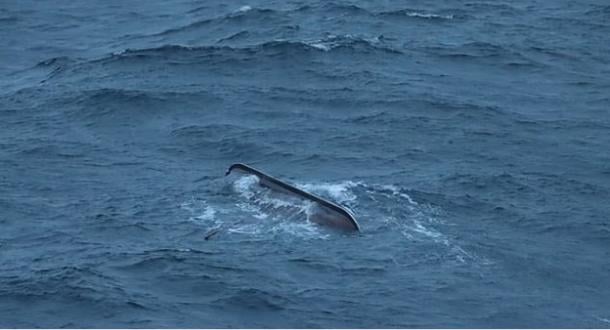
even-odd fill
[(348, 209), (338, 204), (299, 189), (246, 164), (237, 163), (231, 165), (225, 175), (233, 172), (254, 175), (258, 179), (258, 183), (263, 187), (313, 203), (315, 208), (309, 219), (315, 223), (347, 231), (360, 231), (360, 226), (354, 215)]

